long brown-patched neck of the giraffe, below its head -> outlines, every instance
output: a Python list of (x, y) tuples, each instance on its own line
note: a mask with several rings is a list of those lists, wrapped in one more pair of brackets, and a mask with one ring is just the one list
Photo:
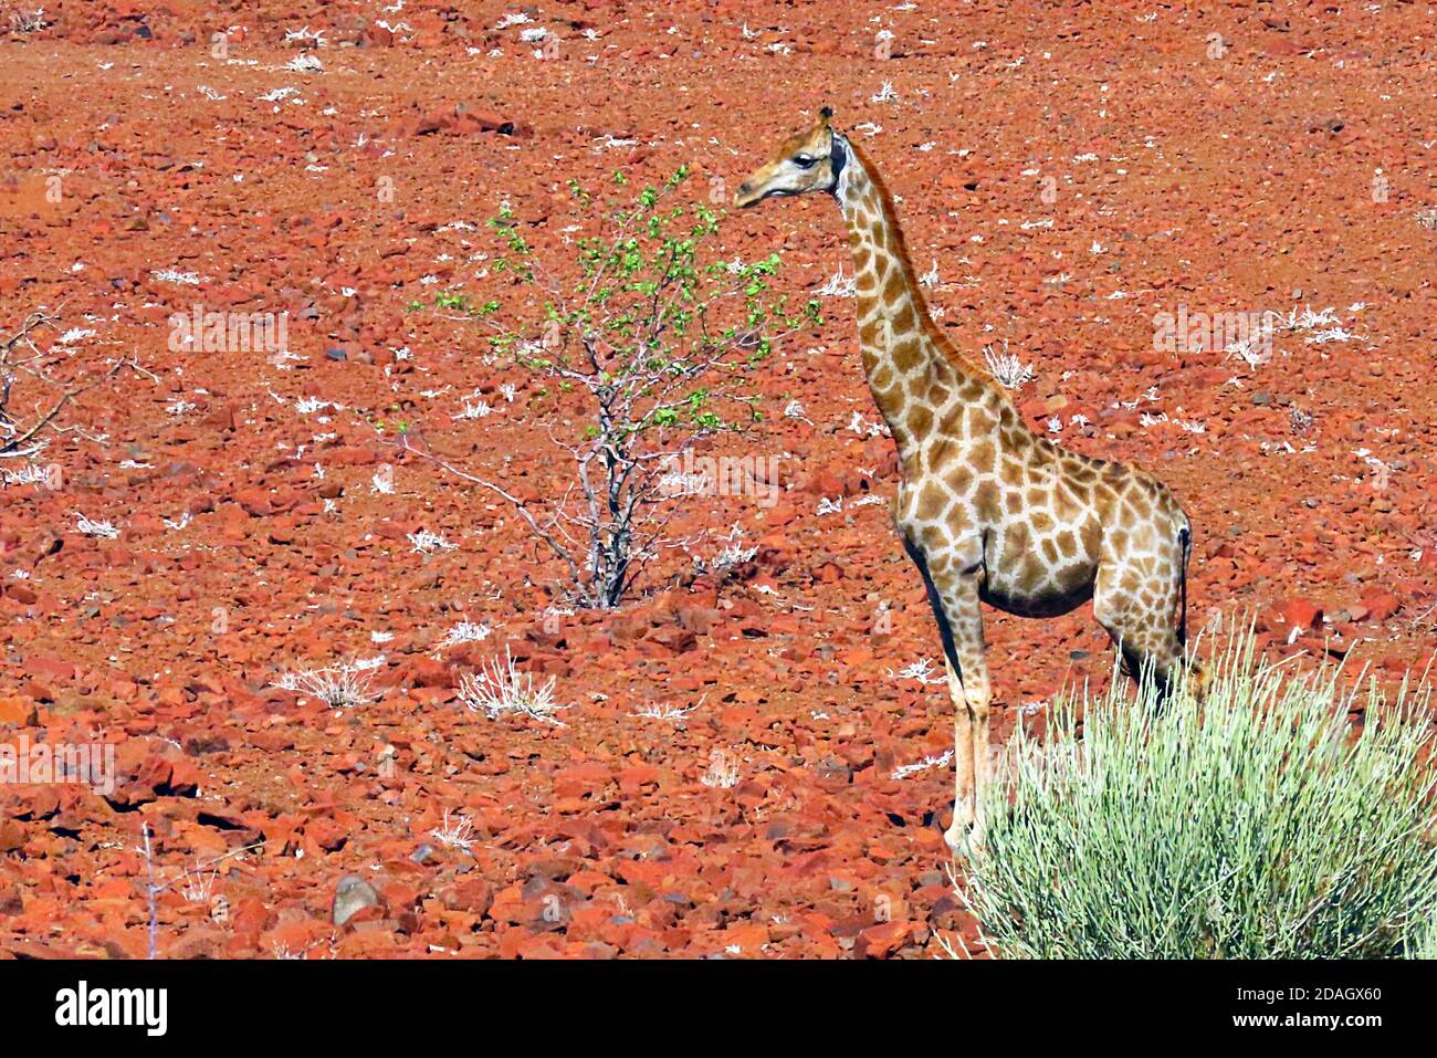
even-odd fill
[(854, 254), (864, 372), (907, 466), (947, 394), (969, 381), (983, 385), (983, 380), (934, 339), (892, 200), (867, 160), (836, 134), (835, 158), (842, 168), (833, 197)]

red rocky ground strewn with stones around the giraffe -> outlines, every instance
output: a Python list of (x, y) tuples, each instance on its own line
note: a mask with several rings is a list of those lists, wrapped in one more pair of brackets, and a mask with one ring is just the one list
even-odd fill
[[(696, 194), (731, 187), (825, 102), (901, 197), (956, 342), (1006, 338), (1036, 371), (1017, 400), (1038, 428), (1056, 418), (1073, 448), (1174, 487), (1197, 528), (1196, 627), (1256, 608), (1273, 643), (1384, 680), (1426, 660), (1428, 4), (228, 7), (46, 3), (0, 43), (3, 329), (46, 306), (93, 332), (75, 364), (132, 352), (152, 372), (76, 404), (86, 436), (36, 457), (59, 487), (0, 490), (0, 736), (105, 739), (121, 770), (108, 798), (0, 789), (0, 950), (142, 956), (142, 821), (161, 881), (257, 847), (214, 868), (208, 900), (161, 894), (161, 956), (914, 957), (971, 930), (944, 875), (947, 769), (892, 778), (948, 748), (951, 709), (892, 676), (938, 644), (885, 506), (855, 506), (894, 470), (848, 428), (877, 418), (851, 302), (825, 300), (769, 365), (764, 424), (714, 450), (789, 453), (792, 489), (687, 515), (741, 525), (753, 562), (616, 615), (546, 628), (553, 571), (517, 519), (371, 424), (402, 415), (470, 470), (556, 489), (545, 424), (563, 408), (481, 362), (477, 329), (405, 306), (487, 290), (479, 226), (502, 198), (562, 272), (569, 177), (687, 162)], [(530, 22), (496, 27), (516, 13)], [(325, 43), (285, 42), (302, 27)], [(559, 47), (520, 39), (535, 27)], [(322, 69), (285, 69), (302, 53)], [(897, 98), (875, 102), (885, 82)], [(795, 295), (846, 264), (816, 197), (733, 217), (724, 240), (782, 253)], [(300, 359), (170, 351), (168, 315), (194, 303), (289, 312)], [(1154, 316), (1183, 305), (1332, 306), (1351, 339), (1282, 332), (1256, 367), (1155, 351)], [(454, 420), (476, 388), (494, 414)], [(809, 421), (783, 417), (795, 398)], [(385, 464), (392, 494), (371, 486)], [(415, 553), (420, 528), (458, 546)], [(494, 634), (438, 648), (466, 617)], [(1108, 673), (1086, 608), (993, 615), (990, 640), (1004, 733)], [(566, 727), (456, 702), (504, 643), (556, 677)], [(381, 653), (369, 706), (272, 686)], [(693, 712), (634, 716), (655, 703)], [(701, 782), (716, 753), (737, 785)], [(471, 818), (467, 852), (430, 834), (445, 811)], [(382, 903), (335, 929), (346, 874)]]

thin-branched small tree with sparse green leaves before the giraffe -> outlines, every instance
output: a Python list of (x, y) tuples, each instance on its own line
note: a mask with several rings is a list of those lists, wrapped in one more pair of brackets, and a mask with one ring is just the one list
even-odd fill
[[(628, 198), (628, 177), (614, 177)], [(690, 489), (685, 457), (760, 423), (764, 361), (780, 341), (822, 322), (816, 300), (798, 308), (770, 289), (779, 254), (720, 256), (723, 217), (681, 200), (687, 180), (680, 167), (631, 203), (570, 180), (576, 213), (563, 230), (579, 234), (546, 254), (530, 247), (530, 224), (504, 203), (489, 221), (500, 252), (484, 295), (434, 298), (444, 318), (491, 329), (489, 362), (512, 371), (510, 392), (530, 384), (537, 408), (558, 391), (547, 407), (562, 411), (540, 428), (568, 469), (558, 482), (502, 487), (411, 438), (404, 447), (509, 503), (558, 559), (556, 594), (573, 607), (618, 607), (651, 564), (687, 551), (674, 519), (694, 489), (716, 487)]]

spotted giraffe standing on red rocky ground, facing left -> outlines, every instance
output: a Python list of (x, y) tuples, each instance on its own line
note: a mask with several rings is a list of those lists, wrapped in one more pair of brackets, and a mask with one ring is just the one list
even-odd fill
[(864, 372), (898, 448), (892, 505), (943, 641), (954, 704), (951, 850), (984, 841), (992, 686), (980, 602), (1056, 617), (1092, 599), (1134, 677), (1165, 689), (1184, 651), (1191, 525), (1168, 489), (1121, 463), (1063, 451), (1030, 430), (1003, 387), (933, 322), (874, 165), (831, 125), (783, 142), (734, 196), (826, 191), (854, 256)]

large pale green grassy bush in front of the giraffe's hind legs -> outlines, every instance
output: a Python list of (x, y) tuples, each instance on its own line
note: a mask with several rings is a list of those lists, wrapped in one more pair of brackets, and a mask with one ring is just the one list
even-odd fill
[[(1055, 706), (1019, 726), (958, 896), (983, 943), (1030, 959), (1372, 959), (1434, 947), (1430, 689), (1332, 667), (1210, 663), (1200, 703)], [(1364, 709), (1362, 730), (1346, 716)]]

